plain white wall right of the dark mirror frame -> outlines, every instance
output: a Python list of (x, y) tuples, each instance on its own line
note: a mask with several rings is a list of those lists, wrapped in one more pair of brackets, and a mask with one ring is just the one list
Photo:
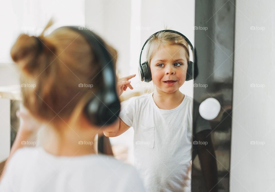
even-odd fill
[(233, 192), (275, 191), (274, 46), (275, 1), (236, 0)]

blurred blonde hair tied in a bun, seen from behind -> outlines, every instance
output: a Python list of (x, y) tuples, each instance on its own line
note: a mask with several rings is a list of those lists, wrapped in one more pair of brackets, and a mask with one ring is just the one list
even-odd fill
[[(44, 36), (52, 24), (50, 20), (38, 37), (21, 34), (11, 48), (11, 58), (25, 84), (21, 86), (23, 105), (37, 119), (54, 124), (70, 119), (74, 109), (81, 112), (101, 89), (102, 74), (97, 57), (79, 33), (58, 28)], [(115, 64), (117, 51), (107, 44), (105, 47)], [(85, 83), (93, 87), (79, 86)]]

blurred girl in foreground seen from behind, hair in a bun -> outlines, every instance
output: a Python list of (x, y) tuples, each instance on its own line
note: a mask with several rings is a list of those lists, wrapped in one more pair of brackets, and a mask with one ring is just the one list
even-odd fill
[[(44, 31), (39, 37), (20, 35), (11, 49), (26, 85), (22, 87), (26, 111), (18, 114), (21, 124), (0, 191), (144, 191), (132, 166), (97, 152), (96, 135), (119, 121), (96, 126), (84, 114), (87, 102), (103, 89), (93, 47), (69, 28), (48, 36)], [(104, 46), (115, 61), (116, 51)], [(38, 130), (43, 131), (42, 146), (23, 147)]]

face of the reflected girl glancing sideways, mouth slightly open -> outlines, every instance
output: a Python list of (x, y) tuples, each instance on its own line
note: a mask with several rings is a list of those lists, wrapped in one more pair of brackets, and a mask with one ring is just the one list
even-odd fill
[[(183, 85), (186, 78), (184, 48), (180, 45), (161, 46), (151, 59), (150, 69), (156, 87), (166, 93), (173, 93)], [(173, 82), (166, 82), (168, 80)]]

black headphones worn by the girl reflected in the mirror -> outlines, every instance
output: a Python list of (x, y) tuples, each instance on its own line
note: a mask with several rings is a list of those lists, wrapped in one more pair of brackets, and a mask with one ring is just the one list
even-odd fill
[[(146, 45), (146, 43), (153, 38), (156, 34), (160, 33), (160, 32), (171, 32), (171, 33), (176, 33), (180, 36), (182, 36), (186, 42), (188, 43), (188, 45), (191, 47), (192, 50), (192, 54), (193, 54), (193, 60), (195, 62), (195, 49), (193, 47), (193, 45), (191, 44), (191, 42), (188, 40), (187, 37), (185, 37), (183, 34), (181, 34), (180, 32), (174, 31), (174, 30), (162, 30), (162, 31), (158, 31), (156, 33), (154, 33), (153, 35), (151, 35), (146, 42), (144, 43), (144, 45), (142, 46), (141, 52), (140, 52), (140, 66), (139, 66), (139, 72), (140, 72), (140, 76), (141, 76), (141, 81), (144, 82), (150, 82), (152, 81), (152, 74), (151, 74), (151, 70), (150, 70), (150, 66), (149, 66), (149, 62), (145, 61), (144, 63), (141, 63), (141, 55), (142, 55), (142, 51)], [(194, 79), (194, 68), (195, 68), (195, 64), (192, 61), (188, 61), (188, 66), (187, 66), (187, 70), (186, 70), (186, 79), (185, 81), (189, 81), (191, 79)]]

